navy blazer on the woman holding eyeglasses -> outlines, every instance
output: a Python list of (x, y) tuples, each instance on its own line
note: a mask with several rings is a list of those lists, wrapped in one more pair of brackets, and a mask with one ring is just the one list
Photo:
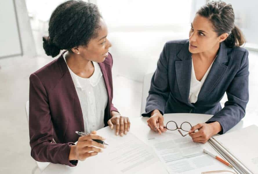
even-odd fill
[[(201, 113), (214, 115), (206, 123), (218, 121), (220, 134), (235, 126), (245, 115), (248, 94), (248, 51), (220, 44), (217, 58), (201, 88), (196, 103), (190, 103), (192, 69), (189, 41), (176, 40), (165, 44), (152, 77), (146, 113), (154, 109), (164, 113)], [(228, 101), (221, 109), (220, 100), (227, 93)]]

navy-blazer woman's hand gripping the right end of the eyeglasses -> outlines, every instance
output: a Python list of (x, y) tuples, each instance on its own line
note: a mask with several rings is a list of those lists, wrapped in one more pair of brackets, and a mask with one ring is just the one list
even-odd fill
[[(195, 132), (195, 130), (199, 130), (198, 132)], [(191, 130), (189, 131), (190, 137), (192, 137), (192, 140), (197, 143), (206, 143), (212, 135), (216, 135), (222, 130), (221, 125), (219, 122), (213, 122), (213, 123), (201, 123), (193, 126)]]

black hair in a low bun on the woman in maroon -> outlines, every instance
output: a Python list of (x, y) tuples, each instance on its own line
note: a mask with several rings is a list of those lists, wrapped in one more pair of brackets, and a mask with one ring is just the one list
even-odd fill
[(49, 36), (43, 37), (46, 55), (55, 57), (61, 50), (76, 46), (86, 46), (90, 39), (96, 38), (102, 18), (98, 7), (84, 1), (66, 1), (51, 14)]

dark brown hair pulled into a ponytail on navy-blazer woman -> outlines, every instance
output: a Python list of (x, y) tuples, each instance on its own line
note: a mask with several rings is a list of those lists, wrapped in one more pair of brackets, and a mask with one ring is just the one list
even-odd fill
[(232, 48), (245, 43), (243, 33), (234, 24), (235, 14), (231, 4), (224, 1), (210, 1), (202, 6), (197, 14), (208, 18), (212, 22), (214, 31), (218, 36), (223, 33), (229, 34), (224, 41), (227, 47)]

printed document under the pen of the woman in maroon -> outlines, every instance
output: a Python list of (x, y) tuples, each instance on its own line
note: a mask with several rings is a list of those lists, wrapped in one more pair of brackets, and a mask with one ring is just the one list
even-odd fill
[(104, 149), (105, 155), (100, 154), (101, 160), (121, 173), (141, 173), (141, 170), (159, 160), (150, 146), (130, 132), (123, 137), (109, 136), (107, 142), (109, 145)]

